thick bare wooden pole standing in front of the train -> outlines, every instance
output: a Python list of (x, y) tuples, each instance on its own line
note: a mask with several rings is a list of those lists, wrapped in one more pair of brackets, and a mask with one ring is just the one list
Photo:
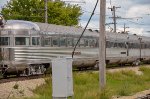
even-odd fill
[(106, 85), (105, 14), (106, 0), (100, 0), (99, 80), (101, 90)]

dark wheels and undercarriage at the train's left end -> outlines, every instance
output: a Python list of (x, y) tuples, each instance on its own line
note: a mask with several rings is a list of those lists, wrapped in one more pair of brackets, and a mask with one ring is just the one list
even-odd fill
[(49, 64), (9, 64), (1, 65), (1, 74), (3, 78), (8, 76), (31, 76), (44, 74)]

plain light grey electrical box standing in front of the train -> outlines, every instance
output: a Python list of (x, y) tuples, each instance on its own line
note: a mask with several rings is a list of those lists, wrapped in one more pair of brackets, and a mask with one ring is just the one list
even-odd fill
[(72, 58), (52, 60), (52, 96), (73, 96)]

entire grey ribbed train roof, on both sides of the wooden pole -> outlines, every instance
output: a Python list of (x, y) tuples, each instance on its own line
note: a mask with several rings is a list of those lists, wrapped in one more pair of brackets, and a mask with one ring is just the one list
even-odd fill
[[(62, 26), (62, 25), (55, 25), (55, 24), (46, 24), (46, 23), (39, 23), (36, 24), (40, 27), (42, 32), (48, 34), (66, 34), (66, 35), (81, 35), (83, 28), (81, 27), (73, 27), (73, 26)], [(85, 31), (84, 36), (93, 36), (99, 37), (99, 31), (87, 29)], [(132, 34), (121, 34), (121, 33), (113, 33), (107, 32), (106, 39), (110, 40), (117, 40), (117, 41), (130, 41), (136, 42), (139, 38), (143, 38), (143, 41), (150, 41), (149, 37), (132, 35)]]

